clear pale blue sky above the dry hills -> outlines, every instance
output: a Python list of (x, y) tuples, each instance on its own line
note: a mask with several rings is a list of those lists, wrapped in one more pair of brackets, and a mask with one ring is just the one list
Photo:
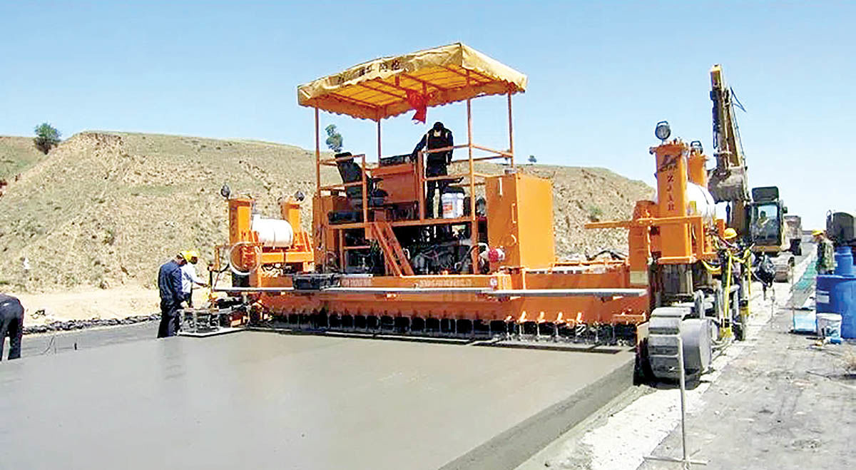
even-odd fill
[[(654, 124), (711, 149), (708, 70), (722, 63), (750, 184), (776, 184), (809, 226), (856, 210), (856, 3), (0, 3), (0, 134), (86, 129), (311, 148), (296, 86), (374, 57), (455, 41), (526, 73), (515, 147), (544, 164), (653, 183)], [(475, 140), (505, 142), (504, 101), (473, 104)], [(464, 107), (429, 110), (466, 135)], [(423, 128), (384, 121), (384, 153)], [(323, 115), (349, 150), (372, 122)]]

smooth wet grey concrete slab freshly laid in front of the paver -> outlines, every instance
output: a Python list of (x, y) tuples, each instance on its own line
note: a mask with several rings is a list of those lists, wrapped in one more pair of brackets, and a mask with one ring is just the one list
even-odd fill
[(0, 467), (515, 467), (633, 354), (241, 332), (0, 362)]

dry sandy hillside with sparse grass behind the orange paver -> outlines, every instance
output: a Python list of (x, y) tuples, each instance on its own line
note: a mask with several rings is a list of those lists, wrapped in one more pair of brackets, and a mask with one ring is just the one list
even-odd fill
[[(23, 139), (23, 138), (21, 138)], [(9, 138), (0, 155), (14, 154)], [(17, 148), (17, 147), (16, 147)], [(4, 153), (5, 152), (5, 153)], [(325, 181), (337, 181), (333, 169)], [(586, 230), (591, 211), (629, 217), (651, 195), (640, 181), (609, 170), (525, 165), (552, 178), (559, 254), (626, 250), (621, 230)], [(158, 134), (85, 132), (51, 150), (0, 197), (0, 286), (49, 291), (79, 285), (152, 286), (164, 259), (193, 247), (211, 258), (226, 239), (219, 188), (250, 193), (268, 216), (276, 199), (313, 191), (312, 152), (254, 141)], [(305, 223), (310, 220), (305, 204)], [(594, 209), (594, 208), (597, 208)], [(27, 259), (30, 270), (23, 269)]]

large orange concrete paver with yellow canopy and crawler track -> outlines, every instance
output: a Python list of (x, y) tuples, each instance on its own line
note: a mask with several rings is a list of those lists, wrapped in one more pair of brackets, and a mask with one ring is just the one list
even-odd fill
[[(687, 145), (663, 140), (651, 152), (668, 199), (640, 201), (632, 222), (593, 226), (628, 227), (628, 259), (557, 260), (550, 181), (514, 164), (512, 98), (525, 90), (526, 75), (460, 43), (299, 86), (299, 104), (315, 118), (312, 235), (300, 230), (302, 194), (282, 200), (277, 219), (254, 213), (253, 199), (229, 198), (229, 244), (218, 247), (216, 269), (229, 268), (233, 283), (216, 290), (253, 321), (291, 329), (637, 345), (645, 358), (666, 358), (652, 361), (664, 371), (655, 370), (658, 377), (674, 376), (675, 336), (692, 330), (686, 339), (701, 343), (700, 357), (687, 370), (700, 372), (710, 339), (728, 324), (722, 312), (702, 312), (722, 297), (710, 263), (723, 229), (702, 213), (704, 200), (687, 200), (693, 171), (706, 177), (704, 159), (702, 170), (698, 155), (688, 166)], [(471, 101), (483, 97), (508, 102), (508, 148), (473, 141)], [(382, 154), (384, 119), (453, 103), (466, 106), (464, 143)], [(377, 122), (377, 163), (365, 154), (322, 154), (321, 111)], [(449, 151), (450, 174), (426, 176), (431, 153)], [(324, 166), (342, 182), (322, 184)], [(441, 188), (442, 211), (428, 205), (431, 183)], [(658, 306), (672, 307), (673, 319), (654, 350), (646, 326)], [(692, 328), (681, 328), (692, 318)]]

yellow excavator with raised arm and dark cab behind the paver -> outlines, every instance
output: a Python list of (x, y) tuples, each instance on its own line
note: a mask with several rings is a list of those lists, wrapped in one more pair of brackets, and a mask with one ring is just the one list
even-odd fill
[(788, 207), (779, 198), (778, 187), (754, 187), (749, 191), (746, 155), (734, 116), (734, 108), (743, 106), (726, 84), (719, 64), (710, 68), (710, 100), (716, 168), (710, 171), (708, 190), (717, 203), (728, 203), (728, 226), (737, 230), (753, 253), (770, 258), (776, 281), (788, 282), (793, 277), (794, 252), (800, 250), (799, 244), (794, 247), (787, 236)]

